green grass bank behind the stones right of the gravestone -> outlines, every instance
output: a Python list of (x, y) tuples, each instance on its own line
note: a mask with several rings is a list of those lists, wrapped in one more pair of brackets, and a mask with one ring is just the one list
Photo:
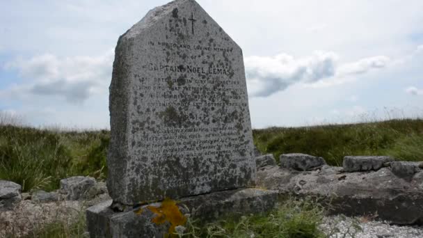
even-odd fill
[(388, 120), (353, 125), (254, 129), (257, 148), (280, 154), (305, 153), (342, 165), (346, 155), (390, 155), (399, 160), (423, 161), (423, 120)]

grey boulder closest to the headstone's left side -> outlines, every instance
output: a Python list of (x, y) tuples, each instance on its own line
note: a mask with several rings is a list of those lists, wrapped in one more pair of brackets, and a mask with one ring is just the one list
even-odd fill
[(95, 179), (93, 177), (68, 177), (61, 180), (60, 193), (65, 195), (66, 200), (81, 200), (92, 198), (93, 188), (95, 188)]

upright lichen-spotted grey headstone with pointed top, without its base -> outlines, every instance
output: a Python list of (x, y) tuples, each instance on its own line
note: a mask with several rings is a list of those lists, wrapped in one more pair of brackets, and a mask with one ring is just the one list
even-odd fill
[(193, 0), (154, 8), (115, 49), (107, 186), (132, 205), (253, 184), (241, 48)]

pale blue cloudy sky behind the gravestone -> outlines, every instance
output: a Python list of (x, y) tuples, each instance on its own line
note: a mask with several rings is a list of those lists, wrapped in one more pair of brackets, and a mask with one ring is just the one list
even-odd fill
[[(109, 127), (119, 35), (163, 0), (0, 0), (0, 111)], [(253, 127), (423, 117), (423, 1), (198, 0), (244, 50)]]

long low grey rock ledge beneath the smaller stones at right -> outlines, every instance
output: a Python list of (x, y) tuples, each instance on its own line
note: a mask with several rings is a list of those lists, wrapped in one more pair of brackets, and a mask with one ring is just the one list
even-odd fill
[(333, 213), (353, 216), (378, 215), (378, 219), (406, 225), (423, 223), (423, 172), (403, 180), (390, 168), (341, 173), (340, 167), (294, 171), (266, 167), (257, 171), (257, 186), (280, 194), (312, 196), (330, 203)]

